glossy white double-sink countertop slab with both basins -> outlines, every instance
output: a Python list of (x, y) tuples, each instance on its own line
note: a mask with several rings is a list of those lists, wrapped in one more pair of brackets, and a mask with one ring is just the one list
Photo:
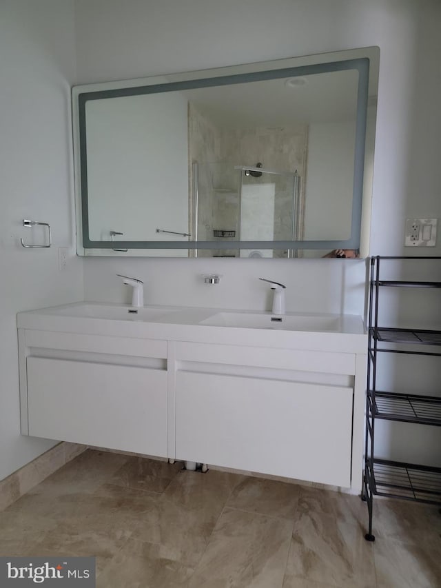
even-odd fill
[(19, 329), (101, 336), (367, 353), (362, 317), (79, 302), (19, 312)]

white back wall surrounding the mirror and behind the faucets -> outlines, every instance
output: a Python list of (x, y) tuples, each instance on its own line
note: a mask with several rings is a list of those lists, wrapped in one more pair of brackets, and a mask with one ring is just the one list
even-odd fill
[[(404, 219), (441, 218), (438, 0), (76, 0), (79, 83), (143, 77), (368, 45), (380, 47), (371, 254), (406, 254)], [(441, 239), (430, 254), (440, 254)], [(116, 273), (139, 276), (146, 303), (270, 308), (258, 276), (287, 284), (287, 310), (362, 313), (365, 262), (85, 259), (85, 296), (125, 301)], [(223, 274), (219, 286), (200, 274)], [(440, 306), (441, 307), (441, 306)], [(402, 306), (406, 315), (411, 307)], [(396, 312), (393, 304), (390, 314)], [(405, 370), (404, 366), (404, 370)], [(398, 368), (389, 367), (397, 377)], [(401, 372), (402, 373), (402, 372)], [(427, 382), (439, 375), (433, 367)], [(429, 435), (429, 438), (425, 437)], [(440, 436), (387, 427), (379, 451), (438, 460)]]

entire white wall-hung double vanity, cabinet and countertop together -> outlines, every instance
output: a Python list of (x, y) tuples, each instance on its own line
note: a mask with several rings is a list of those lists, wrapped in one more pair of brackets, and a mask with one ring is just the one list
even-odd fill
[(317, 317), (287, 315), (303, 325), (292, 330), (163, 312), (78, 303), (20, 313), (21, 432), (360, 491), (360, 317), (324, 316), (334, 331), (317, 332), (305, 327)]

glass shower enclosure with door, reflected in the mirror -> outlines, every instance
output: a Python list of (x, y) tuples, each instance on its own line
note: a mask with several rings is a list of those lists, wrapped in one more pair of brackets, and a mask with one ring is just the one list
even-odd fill
[[(303, 207), (300, 176), (234, 165), (194, 162), (192, 227), (195, 241), (299, 241)], [(198, 257), (293, 257), (295, 250), (195, 250)]]

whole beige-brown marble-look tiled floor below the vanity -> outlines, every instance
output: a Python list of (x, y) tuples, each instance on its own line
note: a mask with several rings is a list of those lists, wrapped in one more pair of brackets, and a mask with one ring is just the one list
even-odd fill
[(0, 512), (1, 556), (96, 556), (100, 588), (440, 588), (436, 507), (88, 450)]

